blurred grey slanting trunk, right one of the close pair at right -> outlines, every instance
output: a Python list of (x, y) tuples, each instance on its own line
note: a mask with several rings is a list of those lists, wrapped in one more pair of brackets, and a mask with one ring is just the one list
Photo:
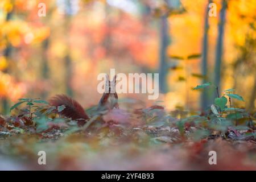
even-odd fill
[(222, 62), (222, 49), (223, 49), (223, 38), (224, 38), (224, 25), (226, 16), (227, 2), (222, 0), (222, 7), (220, 10), (220, 18), (218, 22), (218, 38), (216, 44), (216, 57), (215, 57), (215, 68), (214, 68), (214, 84), (221, 90), (221, 62)]

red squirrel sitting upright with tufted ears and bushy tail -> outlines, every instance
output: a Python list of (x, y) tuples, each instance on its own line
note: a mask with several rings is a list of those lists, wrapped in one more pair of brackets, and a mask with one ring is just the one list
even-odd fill
[[(117, 93), (110, 93), (111, 86), (113, 86), (115, 91), (115, 78), (116, 76), (114, 76), (113, 81), (110, 82), (109, 76), (106, 75), (105, 88), (108, 89), (109, 92), (104, 93), (101, 97), (101, 100), (98, 103), (97, 111), (111, 110), (114, 107), (119, 109)], [(57, 94), (56, 96), (51, 97), (49, 100), (49, 105), (55, 107), (64, 105), (65, 109), (60, 111), (59, 114), (73, 120), (79, 119), (79, 125), (84, 125), (86, 120), (89, 119), (79, 102), (73, 100), (71, 97), (65, 96), (64, 94)]]

